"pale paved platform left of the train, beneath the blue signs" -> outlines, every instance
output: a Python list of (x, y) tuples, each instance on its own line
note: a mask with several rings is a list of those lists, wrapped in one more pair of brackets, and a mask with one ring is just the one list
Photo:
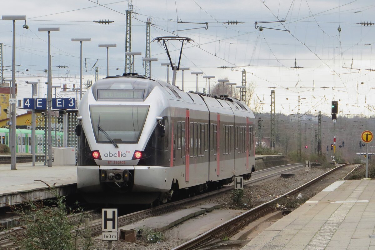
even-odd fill
[[(60, 195), (77, 191), (77, 166), (53, 165), (44, 162), (17, 163), (17, 170), (10, 170), (10, 164), (0, 165), (0, 207), (15, 205), (26, 200), (54, 197), (48, 187), (55, 186)], [(41, 180), (41, 181), (36, 181)]]

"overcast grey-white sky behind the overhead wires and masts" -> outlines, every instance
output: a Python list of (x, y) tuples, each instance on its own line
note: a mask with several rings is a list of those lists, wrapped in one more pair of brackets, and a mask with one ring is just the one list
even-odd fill
[[(371, 0), (3, 1), (1, 15), (26, 15), (29, 26), (24, 29), (24, 21), (16, 21), (16, 64), (21, 64), (16, 70), (23, 72), (18, 76), (24, 76), (19, 78), (19, 93), (27, 93), (30, 88), (24, 84), (25, 76), (46, 75), (43, 69), (47, 68), (47, 33), (38, 32), (41, 27), (60, 27), (60, 31), (51, 32), (52, 73), (56, 77), (53, 85), (79, 83), (79, 79), (66, 78), (77, 77), (80, 72), (80, 44), (71, 42), (76, 37), (92, 38), (92, 42), (83, 43), (84, 81), (94, 80), (95, 66), (99, 67), (100, 78), (105, 76), (106, 52), (105, 48), (98, 48), (101, 43), (117, 44), (109, 49), (110, 75), (122, 75), (128, 4), (133, 5), (135, 12), (132, 51), (142, 52), (135, 60), (137, 73), (144, 74), (145, 21), (151, 17), (151, 40), (174, 34), (193, 39), (184, 46), (181, 66), (214, 75), (213, 82), (228, 77), (239, 85), (241, 72), (236, 70), (245, 69), (247, 81), (255, 83), (257, 97), (265, 103), (263, 112), (270, 111), (270, 92), (275, 87), (276, 112), (296, 113), (300, 96), (306, 98), (301, 100), (303, 113), (329, 114), (331, 101), (339, 100), (344, 115), (374, 114), (375, 72), (366, 69), (375, 69), (371, 45), (375, 42), (375, 25), (357, 24), (375, 22), (375, 3)], [(114, 22), (93, 22), (99, 19)], [(223, 24), (236, 20), (243, 23)], [(256, 28), (260, 26), (263, 31)], [(0, 42), (4, 44), (3, 65), (9, 66), (12, 21), (0, 20)], [(179, 47), (179, 43), (169, 44), (174, 62), (178, 60)], [(151, 57), (158, 58), (152, 62), (152, 77), (166, 81), (166, 66), (160, 63), (168, 60), (157, 42), (151, 43)], [(295, 62), (301, 68), (291, 68)], [(56, 67), (62, 65), (69, 68)], [(11, 78), (9, 71), (4, 75)], [(169, 75), (171, 78), (171, 72)], [(57, 79), (58, 76), (65, 79)], [(185, 90), (195, 90), (195, 81), (195, 76), (185, 71)], [(181, 86), (181, 73), (177, 85)], [(202, 91), (202, 76), (198, 76), (198, 85)]]

